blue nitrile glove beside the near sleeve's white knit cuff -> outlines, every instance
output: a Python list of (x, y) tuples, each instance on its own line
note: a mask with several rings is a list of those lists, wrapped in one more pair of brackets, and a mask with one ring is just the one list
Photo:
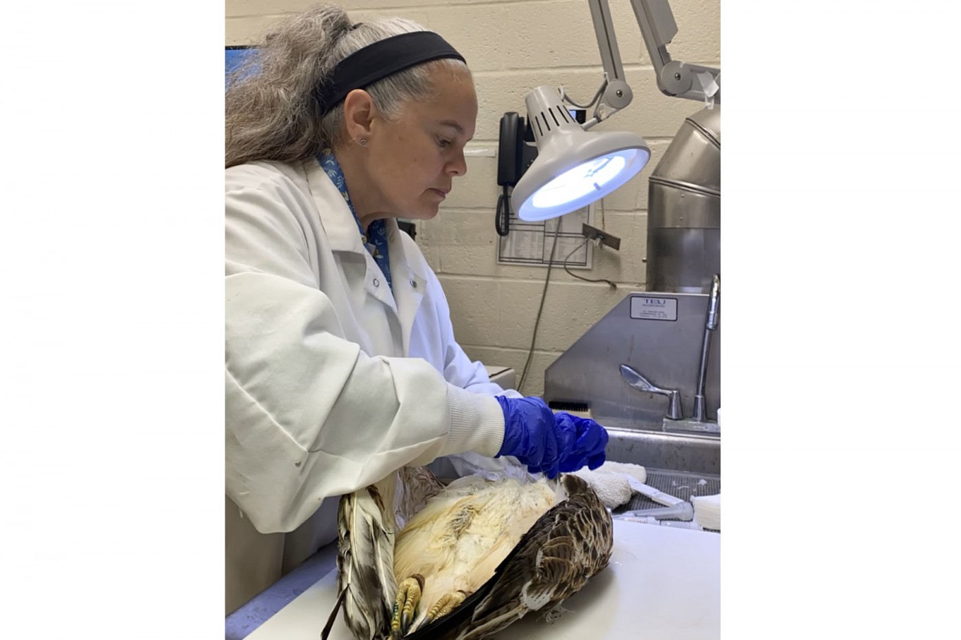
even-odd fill
[[(560, 473), (554, 411), (540, 398), (495, 396), (504, 410), (504, 444), (494, 457), (513, 455), (532, 474), (555, 478)], [(568, 438), (573, 444), (573, 438)]]

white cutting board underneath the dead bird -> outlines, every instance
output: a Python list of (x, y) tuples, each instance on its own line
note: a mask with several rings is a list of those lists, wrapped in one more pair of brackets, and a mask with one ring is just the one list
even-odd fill
[[(334, 569), (251, 633), (249, 640), (317, 640), (336, 600)], [(603, 572), (564, 603), (554, 624), (528, 614), (498, 640), (716, 640), (721, 636), (721, 535), (614, 521)], [(331, 640), (354, 640), (343, 623)]]

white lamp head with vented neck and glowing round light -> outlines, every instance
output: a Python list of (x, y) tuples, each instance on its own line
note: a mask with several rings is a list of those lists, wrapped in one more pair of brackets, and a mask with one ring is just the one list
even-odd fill
[(549, 220), (600, 200), (651, 159), (640, 135), (581, 129), (553, 87), (538, 86), (526, 102), (537, 159), (511, 194), (522, 220)]

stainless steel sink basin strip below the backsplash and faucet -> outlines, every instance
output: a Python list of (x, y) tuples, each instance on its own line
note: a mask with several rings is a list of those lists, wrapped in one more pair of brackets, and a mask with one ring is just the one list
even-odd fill
[[(606, 427), (606, 425), (605, 425)], [(721, 475), (721, 437), (606, 427), (607, 459), (648, 469)]]

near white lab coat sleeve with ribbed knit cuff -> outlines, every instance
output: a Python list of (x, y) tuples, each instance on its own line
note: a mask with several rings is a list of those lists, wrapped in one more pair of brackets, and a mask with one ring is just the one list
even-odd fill
[(226, 489), (263, 533), (405, 464), (496, 455), (504, 437), (494, 398), (342, 337), (309, 266), (311, 212), (279, 174), (226, 194)]

